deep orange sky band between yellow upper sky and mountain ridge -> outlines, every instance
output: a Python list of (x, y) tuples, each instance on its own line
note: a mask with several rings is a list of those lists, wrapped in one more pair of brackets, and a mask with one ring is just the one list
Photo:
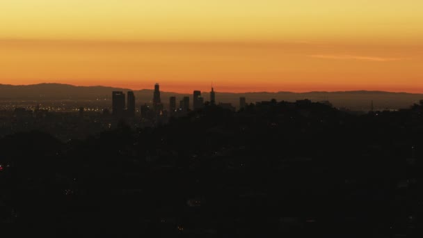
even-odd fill
[(0, 83), (423, 93), (422, 45), (1, 40)]

